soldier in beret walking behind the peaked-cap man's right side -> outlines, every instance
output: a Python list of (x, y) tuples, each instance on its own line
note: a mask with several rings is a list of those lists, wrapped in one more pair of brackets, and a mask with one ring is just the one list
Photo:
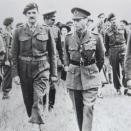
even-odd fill
[(111, 26), (107, 29), (105, 33), (105, 47), (106, 52), (109, 52), (109, 60), (112, 66), (113, 72), (113, 83), (120, 95), (121, 92), (121, 79), (120, 79), (120, 66), (122, 67), (123, 85), (124, 83), (124, 56), (126, 51), (127, 33), (126, 30), (118, 26), (115, 14), (111, 13), (108, 16), (108, 21)]

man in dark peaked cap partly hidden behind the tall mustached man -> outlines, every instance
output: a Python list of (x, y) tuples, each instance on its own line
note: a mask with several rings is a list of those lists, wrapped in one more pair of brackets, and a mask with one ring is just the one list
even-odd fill
[(49, 89), (49, 111), (51, 111), (55, 105), (55, 96), (56, 96), (56, 88), (60, 82), (61, 78), (61, 70), (62, 70), (62, 56), (63, 56), (63, 50), (61, 45), (61, 37), (60, 37), (60, 30), (55, 25), (55, 19), (56, 19), (56, 11), (48, 12), (43, 14), (43, 20), (46, 24), (46, 26), (50, 27), (56, 42), (56, 49), (57, 49), (57, 71), (58, 71), (58, 82), (53, 83), (50, 80), (50, 89)]

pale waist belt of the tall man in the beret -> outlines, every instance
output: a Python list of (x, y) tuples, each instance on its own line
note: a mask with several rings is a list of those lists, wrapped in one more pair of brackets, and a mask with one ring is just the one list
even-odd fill
[(47, 60), (47, 56), (40, 56), (40, 57), (19, 56), (19, 59), (23, 61), (40, 61), (40, 60)]

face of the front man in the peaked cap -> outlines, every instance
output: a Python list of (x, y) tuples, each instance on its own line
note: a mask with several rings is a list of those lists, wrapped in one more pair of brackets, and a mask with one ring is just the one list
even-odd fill
[(74, 19), (74, 26), (76, 31), (82, 31), (86, 28), (86, 19)]

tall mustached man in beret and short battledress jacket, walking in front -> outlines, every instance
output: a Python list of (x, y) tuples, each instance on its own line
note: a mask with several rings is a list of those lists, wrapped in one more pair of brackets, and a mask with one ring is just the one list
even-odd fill
[(20, 79), (33, 131), (41, 131), (45, 123), (43, 97), (49, 88), (49, 74), (53, 82), (57, 78), (55, 41), (50, 28), (38, 23), (38, 12), (36, 3), (26, 5), (27, 23), (15, 30), (12, 46), (13, 81)]

